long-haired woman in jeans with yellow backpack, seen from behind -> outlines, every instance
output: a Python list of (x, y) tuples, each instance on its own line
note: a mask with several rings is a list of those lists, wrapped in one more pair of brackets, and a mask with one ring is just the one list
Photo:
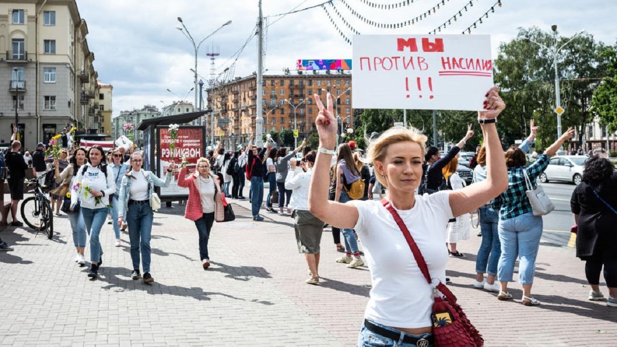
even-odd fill
[[(352, 156), (351, 148), (347, 143), (339, 144), (338, 156), (336, 158), (336, 191), (334, 192), (334, 201), (339, 203), (347, 203), (347, 201), (359, 200), (363, 198), (364, 182), (360, 177), (360, 170), (355, 165), (354, 156)], [(361, 183), (361, 184), (358, 184)], [(352, 193), (352, 185), (356, 189)], [(342, 228), (341, 232), (345, 241), (345, 255), (336, 259), (336, 262), (347, 264), (347, 267), (353, 269), (354, 267), (364, 265), (362, 257), (360, 257), (360, 249), (358, 249), (358, 241), (355, 239), (355, 232), (352, 228)], [(352, 257), (352, 254), (354, 255)]]

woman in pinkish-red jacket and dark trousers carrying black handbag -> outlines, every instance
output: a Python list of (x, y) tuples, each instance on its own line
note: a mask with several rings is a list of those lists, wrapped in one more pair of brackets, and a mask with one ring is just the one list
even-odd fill
[(178, 186), (189, 188), (184, 218), (193, 220), (199, 232), (199, 257), (204, 270), (210, 267), (208, 240), (214, 223), (214, 211), (223, 208), (218, 177), (210, 172), (208, 159), (197, 159), (197, 170), (186, 177), (186, 167), (180, 170)]

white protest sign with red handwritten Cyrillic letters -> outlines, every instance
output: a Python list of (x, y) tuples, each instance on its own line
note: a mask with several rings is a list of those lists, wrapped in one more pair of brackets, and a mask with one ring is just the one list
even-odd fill
[(482, 111), (490, 35), (355, 35), (355, 109)]

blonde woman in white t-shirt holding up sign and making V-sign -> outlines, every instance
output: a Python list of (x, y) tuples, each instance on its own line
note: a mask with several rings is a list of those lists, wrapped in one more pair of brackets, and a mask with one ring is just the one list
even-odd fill
[(420, 341), (423, 346), (432, 345), (433, 286), (424, 278), (393, 214), (400, 215), (412, 234), (431, 277), (445, 283), (445, 263), (449, 259), (444, 247), (447, 221), (478, 208), (508, 186), (494, 123), (505, 104), (496, 87), (486, 97), (487, 111), (478, 112), (487, 144), (489, 175), (484, 182), (457, 191), (416, 196), (426, 136), (416, 130), (392, 128), (370, 144), (367, 159), (375, 165), (379, 182), (387, 187), (384, 204), (389, 210), (380, 201), (328, 201), (329, 164), (336, 144), (337, 123), (331, 94), (327, 94), (327, 109), (315, 95), (320, 109), (315, 122), (320, 148), (310, 185), (309, 209), (327, 224), (354, 228), (362, 241), (373, 288), (359, 346), (375, 345), (376, 339), (389, 345)]

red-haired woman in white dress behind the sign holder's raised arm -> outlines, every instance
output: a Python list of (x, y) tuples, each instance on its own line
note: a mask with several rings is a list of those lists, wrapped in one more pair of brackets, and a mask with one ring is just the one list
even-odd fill
[[(441, 169), (448, 190), (459, 190), (467, 186), (465, 181), (457, 174), (458, 155), (445, 164)], [(449, 245), (449, 254), (453, 258), (463, 258), (465, 254), (457, 251), (457, 242), (467, 240), (469, 238), (469, 214), (462, 214), (456, 218), (450, 219), (447, 228), (446, 241)]]

